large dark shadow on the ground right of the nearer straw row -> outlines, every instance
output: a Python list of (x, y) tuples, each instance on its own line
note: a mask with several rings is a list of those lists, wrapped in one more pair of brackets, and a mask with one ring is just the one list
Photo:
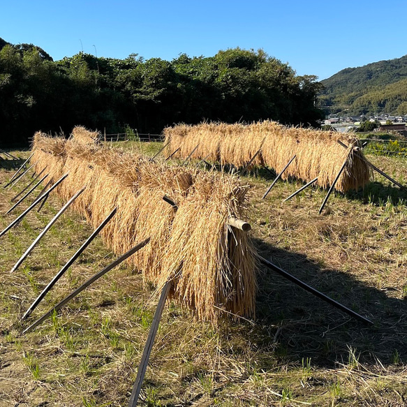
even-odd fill
[[(383, 364), (407, 360), (407, 300), (392, 288), (377, 290), (339, 270), (323, 269), (299, 253), (276, 249), (255, 240), (260, 256), (337, 302), (373, 321), (364, 325), (339, 309), (299, 288), (270, 269), (260, 267), (257, 325), (251, 340), (258, 348), (274, 346), (283, 360), (311, 357), (313, 365), (334, 367), (348, 362), (350, 348), (360, 362)], [(267, 369), (267, 360), (263, 360)]]

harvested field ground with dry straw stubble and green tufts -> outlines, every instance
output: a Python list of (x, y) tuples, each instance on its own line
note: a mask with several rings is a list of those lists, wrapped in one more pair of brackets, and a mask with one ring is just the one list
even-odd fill
[[(154, 154), (161, 143), (126, 145)], [(406, 184), (406, 159), (368, 158)], [(253, 184), (258, 251), (375, 325), (260, 268), (254, 322), (225, 318), (215, 330), (165, 307), (140, 405), (406, 406), (407, 193), (375, 176), (363, 192), (332, 195), (318, 215), (326, 191), (307, 188), (282, 203), (300, 185), (279, 182), (262, 200), (272, 177), (257, 172), (244, 180)], [(12, 173), (0, 170), (0, 182)], [(20, 213), (3, 215), (27, 182), (1, 188), (0, 228)], [(19, 334), (24, 311), (91, 233), (68, 211), (10, 274), (59, 207), (50, 199), (0, 238), (0, 406), (126, 406), (157, 302), (140, 274), (117, 267), (59, 316)], [(96, 239), (31, 320), (113, 259)]]

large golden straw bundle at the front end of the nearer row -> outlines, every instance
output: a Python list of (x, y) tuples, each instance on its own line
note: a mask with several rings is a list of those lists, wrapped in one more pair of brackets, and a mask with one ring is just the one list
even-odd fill
[(244, 215), (246, 191), (236, 179), (200, 172), (172, 223), (158, 287), (172, 279), (172, 296), (200, 319), (214, 321), (221, 310), (254, 316), (253, 247), (245, 232), (227, 223)]

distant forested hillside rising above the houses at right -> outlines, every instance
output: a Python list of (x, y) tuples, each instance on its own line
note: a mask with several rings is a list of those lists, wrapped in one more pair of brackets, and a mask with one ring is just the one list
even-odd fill
[(326, 112), (407, 114), (407, 55), (346, 68), (321, 83), (320, 103)]

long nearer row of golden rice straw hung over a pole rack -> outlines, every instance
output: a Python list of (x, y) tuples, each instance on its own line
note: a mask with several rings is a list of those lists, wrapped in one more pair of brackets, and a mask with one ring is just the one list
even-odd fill
[[(52, 156), (64, 156), (59, 172), (70, 175), (59, 189), (61, 198), (68, 199), (86, 184), (73, 207), (94, 227), (117, 207), (101, 233), (108, 246), (122, 254), (151, 237), (128, 258), (145, 281), (162, 288), (172, 280), (172, 297), (201, 319), (216, 321), (222, 310), (254, 316), (253, 247), (246, 232), (228, 225), (229, 216), (244, 218), (248, 188), (237, 178), (168, 167), (75, 138), (64, 141), (62, 154), (53, 151), (54, 145), (50, 138), (34, 138), (39, 168)], [(175, 200), (178, 209), (163, 195)]]

